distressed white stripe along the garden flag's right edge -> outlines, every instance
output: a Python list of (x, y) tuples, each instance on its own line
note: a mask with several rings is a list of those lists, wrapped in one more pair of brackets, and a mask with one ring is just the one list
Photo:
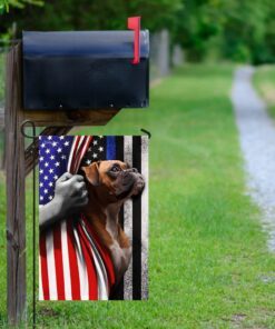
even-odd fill
[(145, 189), (141, 195), (141, 299), (148, 299), (148, 137), (141, 137), (141, 173)]

